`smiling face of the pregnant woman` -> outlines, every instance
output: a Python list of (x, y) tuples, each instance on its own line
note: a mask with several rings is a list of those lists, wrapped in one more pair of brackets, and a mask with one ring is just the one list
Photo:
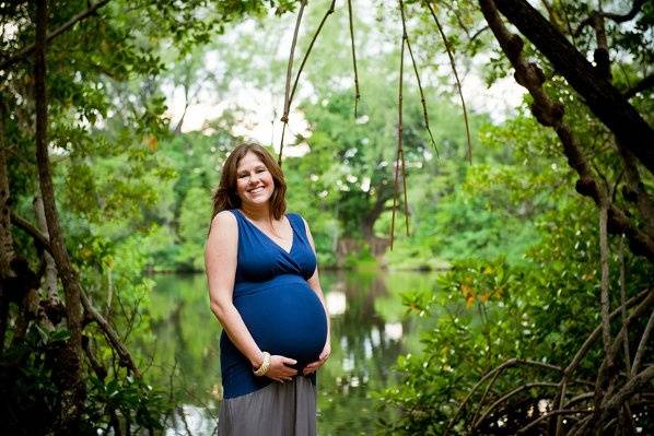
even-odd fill
[(236, 167), (236, 193), (245, 207), (267, 203), (275, 192), (272, 175), (258, 155), (248, 152)]

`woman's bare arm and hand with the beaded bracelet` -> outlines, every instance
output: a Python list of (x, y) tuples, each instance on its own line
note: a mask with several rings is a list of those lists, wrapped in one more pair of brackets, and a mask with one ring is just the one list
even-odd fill
[[(236, 223), (236, 217), (231, 212), (220, 212), (211, 222), (211, 231), (205, 247), (211, 311), (236, 349), (249, 360), (253, 367), (258, 368), (264, 362), (264, 354), (232, 302), (237, 250), (238, 223)], [(273, 356), (270, 369), (266, 375), (281, 381), (281, 379), (296, 374), (295, 369), (285, 366), (285, 364), (294, 365), (295, 363), (292, 358)]]

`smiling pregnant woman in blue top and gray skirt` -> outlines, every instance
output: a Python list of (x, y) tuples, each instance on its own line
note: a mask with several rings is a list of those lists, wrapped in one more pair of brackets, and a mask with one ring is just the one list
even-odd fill
[(260, 145), (222, 168), (205, 261), (223, 327), (220, 436), (316, 435), (316, 370), (331, 352), (315, 247), (285, 212), (287, 185)]

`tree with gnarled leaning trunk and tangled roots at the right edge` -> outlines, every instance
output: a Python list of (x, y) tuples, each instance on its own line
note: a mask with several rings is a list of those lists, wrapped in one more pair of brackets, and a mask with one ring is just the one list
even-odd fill
[[(427, 5), (436, 19), (431, 4)], [(635, 361), (630, 357), (629, 346), (622, 346), (632, 335), (629, 343), (639, 343), (635, 354), (646, 353), (645, 342), (650, 327), (644, 327), (643, 322), (647, 318), (652, 319), (650, 314), (654, 294), (651, 283), (645, 282), (644, 291), (640, 294), (622, 292), (619, 297), (610, 295), (610, 240), (607, 235), (607, 231), (624, 235), (634, 255), (645, 257), (651, 264), (654, 240), (651, 223), (654, 215), (651, 193), (652, 149), (649, 144), (653, 142), (653, 133), (645, 121), (652, 108), (646, 98), (651, 95), (651, 80), (647, 73), (640, 78), (638, 75), (640, 71), (647, 71), (651, 64), (652, 42), (646, 28), (653, 10), (651, 4), (638, 0), (628, 4), (629, 12), (624, 14), (608, 13), (602, 9), (594, 11), (588, 4), (579, 2), (544, 1), (542, 5), (549, 20), (526, 1), (479, 1), (484, 24), (492, 31), (503, 55), (515, 70), (516, 81), (529, 92), (535, 118), (541, 125), (553, 128), (563, 145), (562, 152), (568, 164), (579, 177), (576, 190), (593, 199), (599, 209), (600, 257), (596, 261), (602, 270), (598, 286), (600, 292), (597, 295), (602, 323), (576, 351), (572, 362), (561, 366), (562, 377), (553, 385), (558, 393), (550, 397), (545, 393), (546, 388), (538, 389), (539, 392), (542, 391), (541, 396), (550, 398), (552, 406), (548, 413), (523, 422), (516, 431), (535, 431), (549, 425), (551, 434), (569, 431), (599, 434), (619, 425), (618, 423), (633, 425), (630, 406), (638, 403), (639, 393), (647, 391), (654, 377), (654, 372), (650, 369), (643, 369), (638, 375), (631, 373), (630, 368)], [(447, 7), (442, 10), (442, 13), (459, 19), (458, 23), (466, 30), (457, 11)], [(466, 11), (466, 8), (463, 10)], [(533, 45), (527, 46), (518, 35), (512, 34), (500, 13)], [(470, 13), (470, 16), (475, 16), (475, 13)], [(632, 20), (633, 26), (624, 25)], [(593, 33), (585, 34), (583, 31), (587, 27)], [(475, 33), (474, 36), (478, 34)], [(593, 51), (595, 66), (586, 59), (587, 47), (591, 46), (596, 47)], [(527, 61), (527, 56), (534, 60)], [(544, 69), (538, 63), (544, 64)], [(634, 79), (638, 81), (635, 85), (624, 85), (624, 82), (629, 83)], [(597, 146), (598, 139), (602, 146)], [(616, 163), (619, 163), (619, 167), (616, 167)], [(621, 287), (624, 290), (623, 285)], [(632, 299), (628, 301), (630, 295)], [(611, 315), (611, 308), (616, 305), (619, 310)], [(637, 306), (627, 316), (632, 305)], [(616, 320), (615, 314), (620, 310), (621, 320)], [(619, 332), (614, 334), (614, 329)], [(599, 337), (603, 343), (602, 357), (598, 361), (599, 375), (593, 381), (593, 389), (584, 393), (586, 401), (565, 409), (571, 378), (573, 374), (577, 374), (581, 360)], [(620, 375), (618, 370), (621, 358), (627, 360), (627, 375)], [(480, 385), (490, 382), (480, 400), (482, 404), (492, 403), (490, 410), (511, 408), (513, 394), (488, 396), (494, 380), (503, 374), (507, 364), (532, 365), (512, 360), (492, 370), (487, 368), (487, 375), (470, 392), (472, 394)], [(536, 386), (529, 388), (536, 389)], [(466, 403), (467, 399), (463, 401), (462, 408)], [(580, 406), (591, 408), (592, 413), (580, 416), (583, 413), (580, 412)], [(475, 416), (477, 413), (475, 412)], [(457, 414), (458, 411), (451, 417), (451, 423), (456, 422)], [(497, 415), (493, 416), (491, 420), (497, 419)], [(568, 420), (577, 419), (577, 424), (572, 429), (565, 427), (564, 416)], [(615, 420), (616, 416), (619, 419)], [(488, 419), (488, 415), (483, 417)], [(467, 428), (479, 432), (480, 425), (483, 425), (483, 420), (476, 421), (472, 417), (471, 427)]]

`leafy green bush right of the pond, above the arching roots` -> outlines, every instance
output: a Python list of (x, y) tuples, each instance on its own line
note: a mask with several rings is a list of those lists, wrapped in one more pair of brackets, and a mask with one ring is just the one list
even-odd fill
[[(422, 335), (422, 352), (398, 358), (400, 381), (376, 397), (383, 408), (404, 411), (399, 420), (385, 422), (382, 433), (442, 434), (464, 397), (491, 368), (510, 357), (564, 366), (598, 325), (595, 210), (587, 203), (580, 205), (574, 197), (559, 198), (558, 204), (537, 219), (539, 241), (527, 250), (525, 262), (458, 260), (436, 290), (405, 295), (405, 305), (429, 319), (430, 327)], [(619, 244), (614, 240), (612, 252)], [(611, 288), (619, 287), (618, 269), (614, 255)], [(646, 286), (654, 273), (634, 256), (627, 256), (626, 269), (628, 296)], [(595, 343), (594, 350), (599, 346)], [(598, 358), (592, 351), (577, 375), (593, 379)], [(551, 376), (512, 369), (498, 379), (495, 389), (506, 392), (525, 380)], [(551, 391), (527, 392), (534, 400), (551, 396)], [(467, 433), (465, 422), (475, 414), (476, 401), (455, 421), (455, 433)]]

